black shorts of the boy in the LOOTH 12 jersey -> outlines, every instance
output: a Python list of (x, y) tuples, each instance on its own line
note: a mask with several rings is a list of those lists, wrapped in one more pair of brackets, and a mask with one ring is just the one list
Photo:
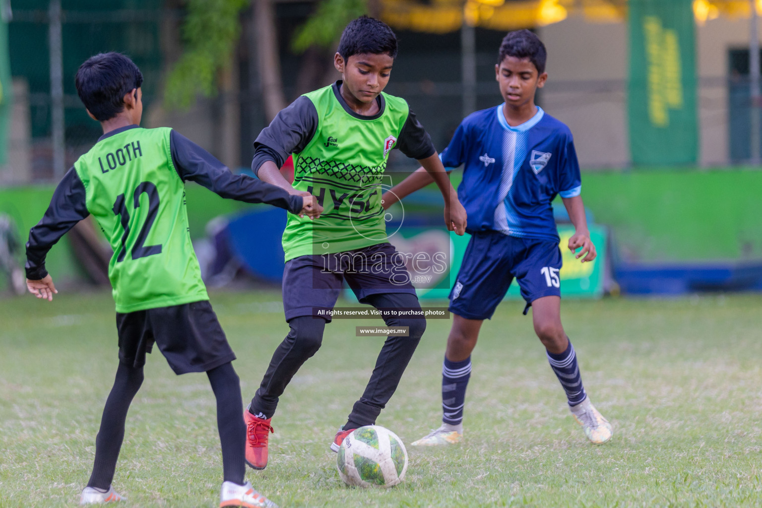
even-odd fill
[(206, 372), (235, 359), (217, 315), (203, 302), (117, 312), (119, 361), (142, 367), (153, 343), (175, 374)]

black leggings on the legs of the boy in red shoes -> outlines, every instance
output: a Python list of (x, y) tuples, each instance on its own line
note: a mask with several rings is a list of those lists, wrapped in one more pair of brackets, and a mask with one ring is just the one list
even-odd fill
[[(376, 308), (413, 308), (420, 309), (418, 297), (411, 293), (383, 293), (367, 297), (368, 303)], [(409, 337), (388, 337), (384, 342), (373, 374), (370, 375), (365, 392), (359, 401), (354, 403), (349, 415), (346, 428), (373, 425), (381, 410), (392, 398), (402, 373), (408, 366), (421, 336), (426, 330), (424, 318), (389, 317), (385, 318), (387, 326), (409, 327)], [(270, 366), (264, 374), (261, 385), (254, 398), (251, 399), (249, 411), (252, 414), (264, 414), (270, 418), (275, 413), (278, 398), (283, 395), (286, 386), (317, 350), (323, 339), (325, 320), (312, 316), (300, 316), (289, 321), (291, 330), (277, 347)]]

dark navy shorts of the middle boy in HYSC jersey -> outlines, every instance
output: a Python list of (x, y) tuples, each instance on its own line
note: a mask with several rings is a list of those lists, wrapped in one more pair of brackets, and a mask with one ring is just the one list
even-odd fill
[[(286, 321), (334, 308), (344, 280), (360, 303), (368, 303), (370, 295), (393, 292), (415, 295), (405, 257), (388, 242), (337, 254), (294, 257), (283, 270)], [(331, 321), (325, 315), (320, 317)]]

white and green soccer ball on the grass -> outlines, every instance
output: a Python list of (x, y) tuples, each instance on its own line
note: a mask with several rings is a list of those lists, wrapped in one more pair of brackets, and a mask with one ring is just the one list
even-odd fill
[(344, 438), (336, 465), (347, 485), (394, 487), (405, 478), (408, 452), (402, 439), (391, 430), (368, 425)]

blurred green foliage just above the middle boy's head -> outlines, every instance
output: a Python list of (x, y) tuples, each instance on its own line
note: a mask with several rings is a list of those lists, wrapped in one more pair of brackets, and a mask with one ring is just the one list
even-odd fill
[(368, 0), (323, 0), (315, 14), (296, 32), (292, 49), (304, 53), (309, 46), (331, 46), (347, 23), (368, 14), (368, 4)]

